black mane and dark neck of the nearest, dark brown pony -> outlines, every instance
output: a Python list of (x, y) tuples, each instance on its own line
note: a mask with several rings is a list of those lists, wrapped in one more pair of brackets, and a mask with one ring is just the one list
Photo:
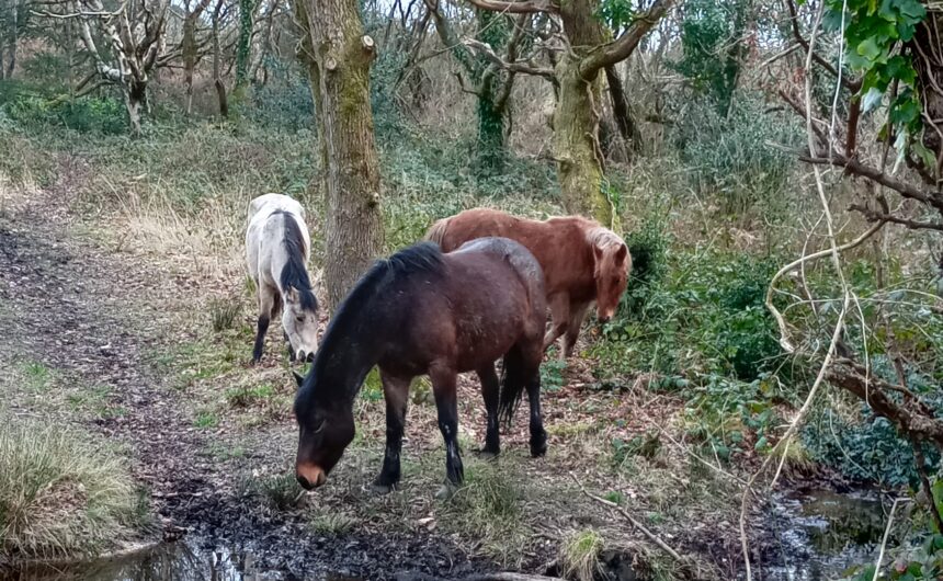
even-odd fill
[[(345, 396), (351, 398), (360, 389), (362, 377), (355, 378), (353, 385), (344, 385), (337, 381), (337, 374), (352, 373), (363, 375), (370, 371), (375, 361), (366, 362), (374, 353), (370, 352), (371, 340), (376, 340), (384, 332), (396, 332), (398, 329), (384, 322), (388, 312), (396, 309), (386, 309), (386, 305), (375, 304), (377, 297), (387, 295), (391, 285), (419, 273), (439, 275), (443, 272), (442, 250), (434, 242), (420, 242), (405, 248), (388, 259), (377, 260), (366, 273), (361, 276), (353, 289), (343, 299), (331, 317), (328, 330), (321, 340), (318, 354), (311, 373), (308, 374), (304, 385), (298, 390), (295, 402), (296, 413), (307, 409), (314, 396), (314, 377), (321, 378), (320, 389), (344, 390)], [(328, 379), (330, 377), (330, 379)], [(353, 390), (353, 392), (346, 392)], [(338, 394), (340, 396), (340, 394)], [(332, 395), (323, 394), (321, 397), (334, 399)], [(337, 398), (340, 399), (340, 398)]]

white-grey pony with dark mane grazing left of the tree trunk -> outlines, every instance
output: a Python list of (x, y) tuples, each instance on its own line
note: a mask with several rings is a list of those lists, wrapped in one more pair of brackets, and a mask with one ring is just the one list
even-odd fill
[(269, 321), (282, 311), (292, 361), (314, 360), (318, 350), (318, 299), (306, 264), (311, 249), (305, 209), (282, 194), (249, 203), (246, 262), (259, 295), (259, 327), (252, 362), (262, 358)]

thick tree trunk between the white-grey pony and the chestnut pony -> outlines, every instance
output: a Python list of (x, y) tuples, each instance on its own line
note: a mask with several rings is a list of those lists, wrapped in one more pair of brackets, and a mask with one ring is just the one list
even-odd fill
[[(297, 0), (304, 5), (316, 75), (321, 155), (326, 158), (328, 308), (333, 310), (379, 254), (379, 160), (370, 107), (374, 41), (364, 35), (357, 0)], [(315, 86), (316, 84), (316, 86)]]

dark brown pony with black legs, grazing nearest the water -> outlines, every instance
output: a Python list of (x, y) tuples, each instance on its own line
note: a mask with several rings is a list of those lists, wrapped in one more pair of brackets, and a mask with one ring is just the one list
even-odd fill
[[(389, 491), (399, 481), (407, 395), (418, 375), (432, 380), (452, 485), (463, 479), (459, 373), (474, 371), (481, 379), (488, 415), (484, 452), (498, 454), (499, 415), (510, 420), (526, 388), (531, 454), (544, 454), (539, 364), (545, 317), (541, 266), (512, 240), (476, 240), (448, 254), (422, 242), (378, 261), (338, 307), (311, 371), (299, 380), (298, 482), (306, 489), (323, 485), (340, 460), (354, 437), (354, 398), (374, 365), (386, 399), (378, 490)], [(502, 356), (499, 381), (495, 362)]]

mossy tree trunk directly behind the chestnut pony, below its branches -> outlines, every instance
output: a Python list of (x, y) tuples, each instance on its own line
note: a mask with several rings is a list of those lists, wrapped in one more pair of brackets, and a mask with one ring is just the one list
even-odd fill
[(612, 224), (612, 205), (603, 193), (599, 140), (599, 73), (582, 78), (579, 59), (570, 55), (557, 64), (560, 98), (554, 112), (554, 155), (564, 207), (569, 214)]

